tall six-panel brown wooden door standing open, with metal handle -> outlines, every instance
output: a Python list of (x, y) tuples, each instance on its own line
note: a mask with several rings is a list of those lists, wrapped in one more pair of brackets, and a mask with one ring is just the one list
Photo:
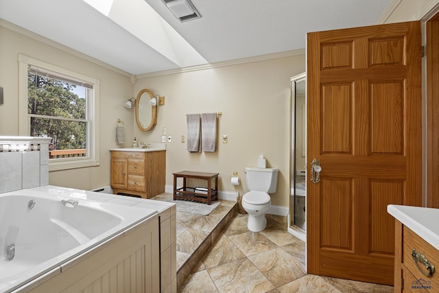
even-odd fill
[(420, 23), (307, 36), (309, 274), (392, 284), (388, 204), (422, 204)]

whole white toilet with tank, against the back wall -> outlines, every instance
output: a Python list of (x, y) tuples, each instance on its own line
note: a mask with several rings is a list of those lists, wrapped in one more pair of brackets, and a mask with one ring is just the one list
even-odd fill
[(265, 213), (271, 207), (268, 194), (276, 192), (279, 169), (246, 167), (248, 192), (242, 197), (242, 207), (248, 213), (247, 228), (259, 232), (267, 226)]

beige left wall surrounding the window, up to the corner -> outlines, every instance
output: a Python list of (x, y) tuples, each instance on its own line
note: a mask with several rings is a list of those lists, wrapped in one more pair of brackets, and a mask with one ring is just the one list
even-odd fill
[[(29, 34), (32, 38), (18, 32)], [(123, 108), (123, 103), (132, 97), (133, 85), (128, 75), (99, 66), (67, 51), (60, 45), (38, 38), (0, 20), (0, 86), (3, 87), (4, 95), (4, 103), (0, 105), (0, 135), (19, 135), (18, 54), (97, 78), (100, 81), (100, 165), (50, 172), (49, 184), (80, 189), (110, 185), (108, 149), (117, 147), (115, 143), (117, 118), (125, 121), (126, 134), (128, 137), (132, 136), (132, 111)]]

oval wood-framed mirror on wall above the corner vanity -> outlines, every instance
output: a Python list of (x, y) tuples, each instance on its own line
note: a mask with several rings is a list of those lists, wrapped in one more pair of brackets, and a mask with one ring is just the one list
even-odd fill
[(157, 124), (157, 106), (150, 104), (155, 99), (149, 89), (139, 91), (136, 99), (136, 122), (142, 131), (148, 131)]

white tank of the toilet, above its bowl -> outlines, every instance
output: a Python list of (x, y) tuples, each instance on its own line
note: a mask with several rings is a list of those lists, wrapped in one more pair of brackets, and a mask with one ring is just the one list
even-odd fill
[(277, 189), (279, 169), (246, 167), (246, 183), (249, 191), (264, 191), (274, 194)]

